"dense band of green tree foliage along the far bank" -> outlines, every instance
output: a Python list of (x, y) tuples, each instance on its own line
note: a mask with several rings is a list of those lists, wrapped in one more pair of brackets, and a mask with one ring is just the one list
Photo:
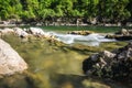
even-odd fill
[(132, 0), (0, 0), (0, 19), (121, 22), (132, 19)]

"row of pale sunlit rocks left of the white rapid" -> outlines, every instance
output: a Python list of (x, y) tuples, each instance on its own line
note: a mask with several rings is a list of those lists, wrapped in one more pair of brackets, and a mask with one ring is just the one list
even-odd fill
[(29, 38), (29, 37), (41, 37), (41, 38), (47, 38), (47, 40), (56, 40), (54, 35), (44, 32), (42, 29), (38, 28), (30, 28), (30, 29), (21, 29), (21, 28), (12, 28), (12, 29), (0, 29), (0, 37), (7, 34), (14, 34), (22, 38)]

